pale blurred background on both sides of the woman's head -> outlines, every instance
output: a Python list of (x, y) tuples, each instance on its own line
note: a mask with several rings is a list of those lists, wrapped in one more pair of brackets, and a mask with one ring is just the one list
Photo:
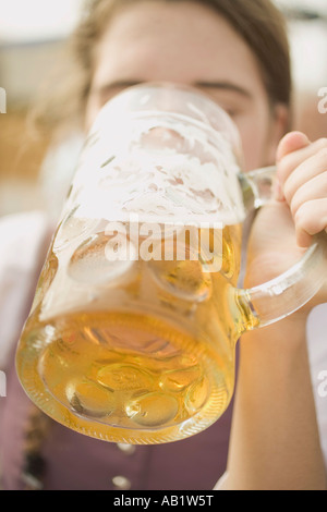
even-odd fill
[[(327, 114), (317, 108), (318, 90), (327, 87), (327, 1), (276, 3), (289, 24), (294, 127), (312, 138), (327, 136)], [(46, 208), (51, 200), (56, 210), (61, 175), (72, 172), (63, 154), (56, 162), (60, 170), (51, 173), (49, 136), (33, 133), (27, 113), (43, 81), (60, 63), (82, 5), (83, 0), (0, 0), (0, 87), (7, 92), (7, 113), (0, 113), (0, 216)]]

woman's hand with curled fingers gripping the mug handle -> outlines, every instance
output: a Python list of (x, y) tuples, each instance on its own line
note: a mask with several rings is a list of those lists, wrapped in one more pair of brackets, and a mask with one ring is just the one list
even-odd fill
[[(262, 208), (252, 229), (246, 288), (288, 270), (312, 243), (312, 236), (326, 227), (327, 139), (310, 143), (304, 134), (290, 133), (277, 151), (275, 199)], [(327, 302), (327, 281), (306, 309), (322, 302)]]

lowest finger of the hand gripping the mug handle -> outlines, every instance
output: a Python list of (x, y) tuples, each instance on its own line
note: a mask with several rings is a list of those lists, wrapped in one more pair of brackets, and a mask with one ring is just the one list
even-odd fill
[(296, 242), (300, 247), (308, 247), (312, 236), (327, 227), (327, 198), (304, 203), (294, 217)]

